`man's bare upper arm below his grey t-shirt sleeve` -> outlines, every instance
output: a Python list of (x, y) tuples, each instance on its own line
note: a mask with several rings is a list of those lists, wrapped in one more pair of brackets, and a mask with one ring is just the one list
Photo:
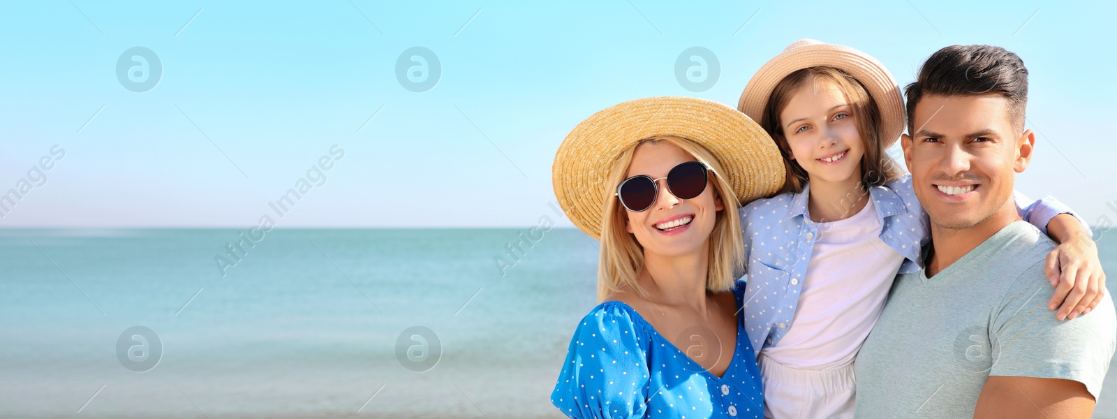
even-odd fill
[(1094, 396), (1078, 381), (990, 375), (974, 418), (1089, 419), (1094, 404)]

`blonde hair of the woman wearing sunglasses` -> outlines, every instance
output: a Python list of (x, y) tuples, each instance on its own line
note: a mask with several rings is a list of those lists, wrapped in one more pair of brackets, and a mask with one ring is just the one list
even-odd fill
[(689, 153), (695, 160), (706, 163), (713, 169), (710, 177), (714, 190), (722, 198), (724, 209), (716, 212), (714, 230), (709, 240), (709, 266), (706, 269), (706, 289), (712, 292), (727, 291), (736, 282), (735, 272), (743, 272), (744, 240), (741, 237), (741, 219), (737, 217), (736, 194), (733, 187), (724, 178), (722, 163), (698, 143), (678, 136), (657, 136), (642, 140), (620, 153), (609, 171), (605, 193), (605, 210), (601, 219), (601, 256), (598, 263), (598, 302), (604, 301), (609, 294), (622, 288), (636, 291), (640, 296), (647, 296), (637, 284), (637, 276), (643, 267), (643, 246), (636, 236), (626, 230), (627, 215), (624, 206), (614, 196), (617, 185), (624, 180), (636, 149), (645, 143), (666, 142), (675, 144)]

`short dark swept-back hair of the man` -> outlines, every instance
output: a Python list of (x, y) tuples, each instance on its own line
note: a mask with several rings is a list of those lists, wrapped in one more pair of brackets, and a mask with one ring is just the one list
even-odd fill
[(915, 105), (924, 96), (985, 93), (997, 93), (1009, 101), (1009, 121), (1023, 132), (1028, 68), (1019, 56), (987, 45), (954, 45), (935, 51), (919, 68), (919, 78), (904, 88), (908, 134), (915, 135)]

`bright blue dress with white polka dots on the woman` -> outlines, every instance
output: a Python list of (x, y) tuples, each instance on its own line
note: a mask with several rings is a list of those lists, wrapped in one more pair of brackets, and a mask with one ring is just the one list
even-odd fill
[[(733, 291), (738, 308), (744, 287)], [(763, 401), (742, 322), (729, 368), (715, 377), (621, 302), (582, 318), (551, 393), (571, 418), (763, 418)]]

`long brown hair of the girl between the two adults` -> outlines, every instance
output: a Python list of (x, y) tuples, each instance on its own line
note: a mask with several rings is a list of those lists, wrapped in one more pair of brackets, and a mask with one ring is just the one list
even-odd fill
[(877, 102), (872, 99), (869, 92), (853, 76), (838, 68), (810, 67), (787, 75), (775, 85), (760, 121), (764, 131), (767, 131), (768, 135), (775, 140), (776, 145), (780, 146), (780, 154), (783, 154), (787, 179), (780, 192), (802, 192), (809, 180), (803, 166), (791, 160), (791, 147), (787, 145), (783, 125), (780, 124), (780, 113), (787, 107), (791, 97), (800, 88), (809, 83), (820, 82), (830, 82), (838, 86), (838, 89), (853, 108), (853, 121), (857, 123), (857, 132), (861, 135), (861, 145), (865, 149), (865, 155), (861, 156), (861, 185), (865, 190), (882, 185), (898, 178), (903, 172), (896, 161), (885, 152), (886, 139), (880, 135), (880, 107), (877, 106)]

